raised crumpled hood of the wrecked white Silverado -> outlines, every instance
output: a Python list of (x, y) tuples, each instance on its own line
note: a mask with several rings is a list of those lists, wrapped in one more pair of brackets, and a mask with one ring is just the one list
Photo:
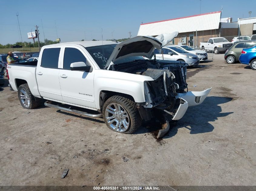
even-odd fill
[(161, 49), (171, 40), (177, 37), (178, 32), (171, 34), (160, 34), (157, 37), (137, 36), (116, 45), (113, 53), (108, 59), (105, 68), (108, 68), (111, 62), (129, 57), (129, 56), (145, 56), (151, 58), (155, 48)]

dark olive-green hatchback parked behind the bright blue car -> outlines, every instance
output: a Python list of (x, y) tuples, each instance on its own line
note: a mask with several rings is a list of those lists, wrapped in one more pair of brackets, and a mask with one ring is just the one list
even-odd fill
[(237, 41), (226, 51), (224, 59), (228, 64), (233, 64), (239, 60), (239, 56), (241, 55), (242, 49), (251, 48), (255, 45), (255, 40)]

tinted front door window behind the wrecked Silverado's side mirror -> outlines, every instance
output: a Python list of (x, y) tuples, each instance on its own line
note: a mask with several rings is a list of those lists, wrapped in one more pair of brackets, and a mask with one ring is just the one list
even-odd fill
[(73, 62), (86, 63), (86, 58), (83, 53), (76, 48), (65, 48), (63, 68), (70, 70), (70, 64)]

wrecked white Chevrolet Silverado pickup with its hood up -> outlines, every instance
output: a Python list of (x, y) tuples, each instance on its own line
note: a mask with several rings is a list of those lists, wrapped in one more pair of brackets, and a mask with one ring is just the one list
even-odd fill
[(133, 133), (142, 120), (159, 113), (178, 120), (188, 106), (201, 104), (211, 88), (186, 92), (185, 63), (146, 59), (177, 34), (137, 36), (119, 44), (82, 41), (43, 46), (38, 61), (8, 65), (9, 85), (26, 109), (45, 99), (48, 107), (103, 116), (116, 132)]

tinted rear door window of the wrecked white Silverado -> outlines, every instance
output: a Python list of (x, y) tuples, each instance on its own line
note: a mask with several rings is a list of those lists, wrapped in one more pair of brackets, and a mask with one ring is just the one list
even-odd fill
[(41, 66), (45, 68), (58, 68), (60, 49), (61, 48), (44, 49)]

